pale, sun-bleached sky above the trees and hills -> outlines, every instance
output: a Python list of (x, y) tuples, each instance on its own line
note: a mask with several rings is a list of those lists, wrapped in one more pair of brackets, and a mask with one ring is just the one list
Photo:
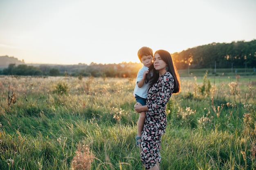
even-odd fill
[(170, 53), (256, 39), (256, 0), (0, 0), (0, 56), (25, 63), (139, 63)]

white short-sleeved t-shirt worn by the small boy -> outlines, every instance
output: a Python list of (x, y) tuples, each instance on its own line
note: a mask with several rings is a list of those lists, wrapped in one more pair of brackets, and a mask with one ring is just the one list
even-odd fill
[(136, 83), (135, 83), (135, 88), (133, 91), (133, 95), (135, 96), (135, 94), (137, 94), (138, 96), (142, 97), (142, 98), (147, 98), (148, 96), (148, 83), (146, 84), (144, 82), (144, 85), (139, 88), (137, 83), (139, 81), (141, 81), (141, 79), (143, 78), (143, 73), (148, 70), (148, 67), (143, 66), (141, 69), (139, 69), (139, 72), (137, 74), (137, 78), (136, 78)]

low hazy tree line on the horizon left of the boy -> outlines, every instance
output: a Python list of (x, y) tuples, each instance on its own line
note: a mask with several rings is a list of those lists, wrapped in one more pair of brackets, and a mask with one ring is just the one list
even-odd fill
[(39, 65), (9, 64), (0, 70), (2, 75), (17, 76), (93, 76), (93, 77), (136, 77), (141, 63), (96, 64), (90, 65)]

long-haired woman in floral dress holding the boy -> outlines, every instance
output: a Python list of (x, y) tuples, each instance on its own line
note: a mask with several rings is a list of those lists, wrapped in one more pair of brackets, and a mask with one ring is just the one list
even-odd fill
[(136, 103), (134, 108), (138, 113), (146, 111), (141, 135), (141, 162), (146, 169), (160, 170), (161, 136), (167, 125), (166, 104), (172, 94), (180, 92), (180, 77), (168, 51), (155, 51), (153, 61), (146, 77), (150, 85), (146, 105)]

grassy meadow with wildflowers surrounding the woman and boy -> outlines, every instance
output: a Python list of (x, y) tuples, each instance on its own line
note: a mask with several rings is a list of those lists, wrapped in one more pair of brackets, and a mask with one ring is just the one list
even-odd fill
[[(256, 169), (254, 73), (189, 74), (168, 102), (161, 170)], [(144, 170), (135, 78), (0, 77), (1, 170)]]

